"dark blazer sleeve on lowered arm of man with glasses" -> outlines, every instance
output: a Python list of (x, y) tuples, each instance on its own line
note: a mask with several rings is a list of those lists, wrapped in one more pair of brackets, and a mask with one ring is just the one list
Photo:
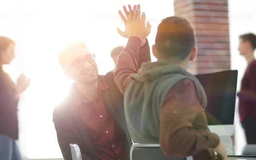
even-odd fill
[(74, 143), (79, 146), (83, 160), (93, 160), (85, 154), (84, 148), (81, 147), (79, 140), (76, 138), (76, 135), (72, 132), (68, 124), (58, 119), (55, 113), (53, 113), (53, 122), (57, 132), (58, 144), (61, 148), (64, 160), (72, 160), (70, 143)]

